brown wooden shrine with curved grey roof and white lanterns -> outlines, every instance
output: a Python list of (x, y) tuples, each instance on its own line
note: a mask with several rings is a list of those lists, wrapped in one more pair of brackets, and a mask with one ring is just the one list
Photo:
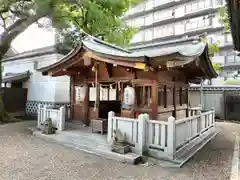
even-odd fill
[(189, 82), (214, 78), (207, 44), (165, 44), (130, 52), (92, 36), (60, 61), (39, 69), (43, 75), (71, 76), (72, 120), (89, 125), (108, 112), (151, 119), (188, 116)]

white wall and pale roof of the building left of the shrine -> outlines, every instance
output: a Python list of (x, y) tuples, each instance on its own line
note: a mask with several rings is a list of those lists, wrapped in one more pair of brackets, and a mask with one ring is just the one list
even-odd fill
[(69, 80), (67, 76), (50, 77), (42, 76), (40, 72), (34, 69), (34, 62), (38, 62), (38, 67), (48, 66), (60, 59), (59, 54), (50, 54), (33, 58), (25, 58), (4, 62), (5, 73), (21, 73), (30, 71), (31, 76), (27, 82), (23, 84), (24, 88), (28, 88), (28, 101), (41, 102), (69, 102)]

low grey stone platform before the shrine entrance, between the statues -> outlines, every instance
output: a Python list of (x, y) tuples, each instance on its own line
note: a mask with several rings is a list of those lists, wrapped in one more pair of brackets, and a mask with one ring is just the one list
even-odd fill
[(135, 153), (118, 154), (110, 151), (106, 135), (83, 133), (77, 130), (57, 131), (53, 135), (45, 135), (32, 129), (33, 135), (46, 141), (62, 144), (66, 147), (76, 148), (87, 153), (102, 156), (122, 163), (138, 164), (142, 157)]

